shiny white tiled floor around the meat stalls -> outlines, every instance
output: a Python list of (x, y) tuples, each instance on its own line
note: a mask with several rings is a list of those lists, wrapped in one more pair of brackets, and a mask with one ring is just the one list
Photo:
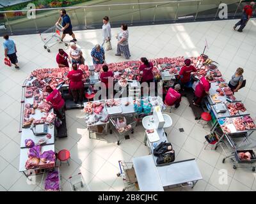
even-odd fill
[[(130, 27), (129, 45), (131, 60), (140, 57), (175, 57), (178, 55), (197, 56), (204, 50), (205, 38), (209, 49), (206, 54), (220, 63), (220, 69), (229, 80), (238, 66), (243, 66), (247, 80), (246, 88), (236, 94), (246, 104), (252, 117), (256, 115), (256, 20), (248, 23), (244, 33), (232, 30), (235, 20), (221, 22), (195, 22), (188, 24), (152, 25)], [(113, 36), (118, 29), (113, 29)], [(100, 30), (76, 31), (78, 45), (81, 45), (87, 64), (92, 64), (90, 51), (101, 42)], [(40, 191), (40, 176), (36, 185), (27, 184), (19, 173), (19, 112), (21, 85), (29, 73), (36, 68), (55, 68), (56, 50), (63, 45), (52, 47), (51, 53), (44, 50), (40, 36), (12, 36), (17, 43), (20, 70), (1, 66), (0, 68), (0, 190), (1, 191)], [(68, 39), (67, 37), (67, 40)], [(1, 43), (3, 39), (0, 39)], [(112, 40), (114, 50), (107, 52), (107, 62), (124, 61), (116, 57), (116, 40)], [(63, 47), (65, 48), (65, 47)], [(3, 59), (1, 48), (0, 59)], [(247, 169), (233, 170), (232, 164), (222, 164), (220, 150), (204, 150), (204, 136), (209, 128), (196, 124), (186, 98), (182, 98), (179, 109), (170, 113), (173, 127), (166, 130), (173, 144), (176, 160), (196, 158), (204, 180), (198, 182), (193, 191), (253, 191), (256, 190), (255, 173)], [(131, 161), (132, 157), (148, 155), (143, 145), (143, 128), (137, 127), (131, 140), (116, 145), (113, 135), (104, 137), (105, 141), (88, 138), (84, 128), (81, 110), (67, 111), (68, 138), (56, 141), (56, 150), (68, 149), (71, 152), (70, 166), (61, 167), (62, 187), (70, 191), (68, 177), (81, 171), (93, 191), (121, 191), (122, 179), (116, 177), (118, 160)], [(184, 128), (184, 133), (179, 132)], [(220, 170), (227, 170), (226, 184), (220, 184)], [(174, 189), (190, 191), (191, 189)]]

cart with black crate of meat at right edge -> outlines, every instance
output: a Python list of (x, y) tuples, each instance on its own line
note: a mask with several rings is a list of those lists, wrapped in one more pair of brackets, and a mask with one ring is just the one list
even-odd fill
[[(252, 171), (255, 171), (255, 163), (256, 163), (256, 149), (248, 149), (248, 150), (236, 150), (229, 156), (222, 159), (222, 163), (225, 163), (225, 159), (229, 158), (231, 163), (233, 164), (234, 170), (236, 168), (252, 168)], [(239, 158), (240, 152), (250, 152), (252, 158), (250, 160), (242, 160)]]

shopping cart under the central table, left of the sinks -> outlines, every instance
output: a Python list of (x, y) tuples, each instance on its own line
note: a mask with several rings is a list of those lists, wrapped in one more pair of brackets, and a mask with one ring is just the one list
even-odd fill
[[(126, 127), (125, 128), (118, 128), (116, 122), (118, 118), (124, 118), (126, 119)], [(136, 127), (136, 119), (135, 119), (135, 115), (134, 114), (127, 114), (127, 115), (113, 115), (109, 118), (109, 120), (111, 121), (111, 128), (110, 128), (110, 134), (113, 133), (113, 131), (115, 131), (117, 138), (118, 138), (118, 142), (117, 145), (120, 145), (120, 141), (123, 140), (124, 138), (129, 138), (130, 133), (133, 134), (134, 133), (134, 128)]]

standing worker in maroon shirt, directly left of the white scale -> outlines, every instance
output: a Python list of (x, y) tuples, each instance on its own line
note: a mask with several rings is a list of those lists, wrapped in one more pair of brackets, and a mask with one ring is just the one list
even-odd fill
[(81, 69), (77, 69), (77, 64), (72, 64), (72, 71), (68, 72), (67, 78), (69, 78), (69, 89), (72, 93), (73, 101), (77, 103), (78, 99), (80, 103), (83, 103), (84, 100), (84, 82), (83, 79), (83, 71)]

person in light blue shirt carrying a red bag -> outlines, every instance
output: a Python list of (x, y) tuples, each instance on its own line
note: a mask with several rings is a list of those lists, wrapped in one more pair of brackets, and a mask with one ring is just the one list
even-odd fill
[(18, 59), (17, 59), (17, 48), (16, 45), (14, 43), (13, 40), (9, 39), (8, 34), (4, 35), (4, 56), (8, 57), (10, 59), (10, 61), (12, 62), (12, 64), (15, 65), (16, 69), (19, 69), (19, 65), (18, 65)]

